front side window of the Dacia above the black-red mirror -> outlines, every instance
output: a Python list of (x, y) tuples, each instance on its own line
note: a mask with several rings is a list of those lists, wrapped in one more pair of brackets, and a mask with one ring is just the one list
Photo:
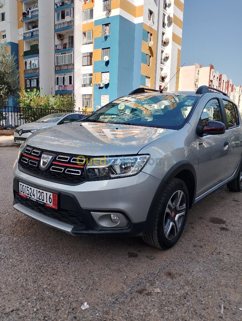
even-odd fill
[(217, 99), (212, 99), (206, 104), (202, 111), (201, 120), (202, 127), (207, 127), (210, 120), (222, 122), (220, 103)]

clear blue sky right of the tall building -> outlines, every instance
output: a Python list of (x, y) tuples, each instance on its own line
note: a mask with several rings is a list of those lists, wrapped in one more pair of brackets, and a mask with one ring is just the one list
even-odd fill
[(181, 66), (195, 63), (242, 86), (242, 0), (184, 0)]

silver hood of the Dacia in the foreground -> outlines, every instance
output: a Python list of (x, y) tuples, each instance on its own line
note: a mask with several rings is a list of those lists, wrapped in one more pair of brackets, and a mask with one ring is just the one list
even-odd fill
[(145, 126), (74, 122), (33, 134), (27, 139), (27, 144), (77, 155), (131, 155), (172, 132), (172, 129)]

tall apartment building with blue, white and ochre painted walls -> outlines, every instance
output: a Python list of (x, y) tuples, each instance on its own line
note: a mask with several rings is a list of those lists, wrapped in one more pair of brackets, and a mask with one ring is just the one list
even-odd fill
[(87, 110), (140, 86), (178, 90), (184, 0), (8, 2), (0, 13), (16, 13), (6, 23), (26, 89), (75, 96)]

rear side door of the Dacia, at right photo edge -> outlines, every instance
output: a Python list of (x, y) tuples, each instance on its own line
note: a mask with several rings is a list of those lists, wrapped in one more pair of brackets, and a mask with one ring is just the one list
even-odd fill
[(229, 133), (229, 158), (226, 171), (230, 177), (238, 167), (242, 157), (242, 137), (236, 105), (227, 99), (223, 99), (223, 105), (227, 117)]

